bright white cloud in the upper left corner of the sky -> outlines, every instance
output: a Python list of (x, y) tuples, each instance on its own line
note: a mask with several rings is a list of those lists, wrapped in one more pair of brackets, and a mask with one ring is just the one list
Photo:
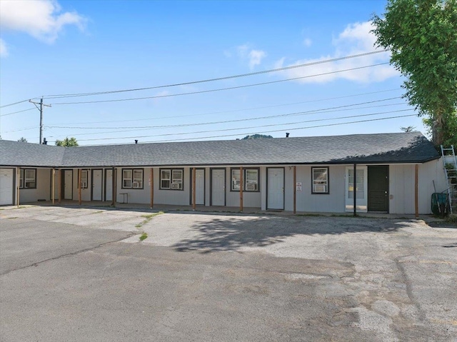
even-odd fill
[(53, 43), (66, 25), (84, 29), (86, 20), (75, 11), (61, 13), (54, 0), (0, 1), (0, 27), (3, 31), (22, 31), (36, 39)]

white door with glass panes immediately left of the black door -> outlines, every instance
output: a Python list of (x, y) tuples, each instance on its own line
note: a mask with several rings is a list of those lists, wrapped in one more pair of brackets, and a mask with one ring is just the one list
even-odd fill
[[(346, 166), (346, 211), (354, 210), (353, 166)], [(356, 211), (368, 211), (368, 177), (366, 166), (357, 166)]]

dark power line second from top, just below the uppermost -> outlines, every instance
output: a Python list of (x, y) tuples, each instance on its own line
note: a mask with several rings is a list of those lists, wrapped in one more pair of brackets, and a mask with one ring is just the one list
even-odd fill
[(368, 66), (358, 66), (357, 68), (330, 71), (330, 72), (326, 72), (326, 73), (323, 73), (323, 74), (315, 74), (315, 75), (294, 77), (292, 79), (281, 79), (281, 80), (276, 80), (276, 81), (261, 82), (261, 83), (257, 83), (257, 84), (245, 84), (243, 86), (231, 86), (231, 87), (227, 87), (227, 88), (210, 89), (210, 90), (204, 90), (204, 91), (191, 91), (189, 93), (157, 95), (157, 96), (144, 96), (144, 97), (135, 97), (135, 98), (129, 98), (129, 99), (79, 101), (79, 102), (58, 102), (58, 103), (56, 103), (54, 105), (59, 105), (59, 104), (61, 104), (61, 105), (62, 104), (64, 104), (64, 105), (65, 104), (101, 104), (101, 103), (106, 103), (106, 102), (136, 101), (136, 100), (146, 100), (146, 99), (161, 99), (161, 98), (164, 98), (164, 97), (204, 94), (204, 93), (211, 93), (211, 92), (214, 92), (214, 91), (225, 91), (225, 90), (232, 90), (232, 89), (248, 88), (250, 86), (263, 86), (263, 85), (266, 85), (266, 84), (276, 84), (276, 83), (281, 83), (281, 82), (286, 82), (286, 81), (294, 81), (296, 79), (308, 79), (308, 78), (316, 77), (316, 76), (325, 76), (325, 75), (329, 75), (329, 74), (337, 74), (337, 73), (344, 72), (344, 71), (353, 71), (353, 70), (358, 70), (358, 69), (366, 69), (366, 68), (371, 68), (372, 66), (381, 66), (381, 65), (385, 65), (385, 64), (389, 64), (389, 63), (385, 62), (385, 63), (372, 64), (372, 65), (368, 65)]

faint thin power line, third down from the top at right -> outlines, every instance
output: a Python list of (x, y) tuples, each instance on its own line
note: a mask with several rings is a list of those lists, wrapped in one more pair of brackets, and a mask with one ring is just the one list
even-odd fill
[[(379, 93), (386, 93), (389, 91), (396, 91), (397, 89), (386, 89), (381, 91), (371, 91), (368, 93), (361, 93), (361, 94), (351, 94), (345, 96), (336, 96), (336, 97), (328, 97), (326, 99), (316, 99), (316, 100), (309, 100), (309, 101), (300, 101), (300, 102), (292, 102), (288, 104), (274, 104), (271, 106), (261, 106), (261, 107), (251, 107), (246, 109), (235, 109), (231, 111), (211, 111), (208, 113), (201, 113), (201, 114), (187, 114), (187, 115), (175, 115), (175, 116), (159, 116), (156, 118), (149, 118), (149, 119), (129, 119), (129, 120), (109, 120), (109, 121), (84, 121), (84, 122), (75, 122), (74, 124), (104, 124), (106, 122), (113, 123), (113, 122), (130, 122), (130, 121), (151, 121), (151, 120), (159, 120), (159, 119), (175, 119), (175, 118), (186, 118), (189, 116), (204, 116), (204, 115), (213, 115), (213, 114), (226, 114), (226, 113), (236, 113), (238, 111), (252, 111), (254, 109), (267, 109), (267, 108), (274, 108), (274, 107), (281, 107), (281, 106), (292, 106), (295, 104), (310, 104), (313, 102), (320, 102), (320, 101), (331, 101), (331, 100), (338, 100), (338, 99), (347, 99), (349, 97), (356, 97), (356, 96), (366, 96), (372, 94), (379, 94)], [(54, 124), (59, 125), (59, 124)], [(49, 126), (51, 127), (51, 126)], [(54, 126), (53, 126), (54, 127)]]

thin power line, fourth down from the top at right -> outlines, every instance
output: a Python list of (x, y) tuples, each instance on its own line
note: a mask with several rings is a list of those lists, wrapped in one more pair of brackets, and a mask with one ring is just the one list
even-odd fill
[[(353, 106), (361, 106), (363, 104), (374, 104), (377, 102), (383, 102), (383, 101), (391, 101), (395, 99), (401, 99), (401, 96), (397, 97), (392, 97), (389, 99), (381, 99), (381, 100), (373, 100), (373, 101), (366, 101), (366, 102), (360, 102), (358, 104), (346, 104), (343, 106), (334, 106), (334, 107), (328, 107), (328, 108), (323, 108), (323, 109), (313, 109), (310, 111), (296, 111), (293, 113), (286, 113), (286, 114), (275, 114), (275, 115), (269, 115), (269, 116), (256, 116), (254, 118), (244, 118), (244, 119), (233, 119), (233, 120), (224, 120), (224, 121), (212, 121), (212, 122), (204, 122), (204, 123), (198, 123), (198, 124), (178, 124), (178, 125), (163, 125), (163, 126), (126, 126), (123, 127), (122, 129), (169, 129), (169, 128), (175, 128), (175, 127), (189, 127), (189, 126), (201, 126), (201, 125), (213, 125), (213, 124), (229, 124), (231, 122), (240, 122), (240, 121), (253, 121), (253, 120), (261, 120), (261, 119), (273, 119), (273, 118), (278, 118), (278, 117), (284, 117), (284, 116), (298, 116), (298, 115), (305, 115), (305, 114), (317, 114), (321, 113), (322, 111), (331, 111), (333, 109), (342, 109), (342, 108), (348, 108), (348, 107), (353, 107)], [(74, 126), (49, 126), (51, 129), (112, 129), (112, 127), (106, 128), (106, 127), (74, 127)], [(121, 133), (124, 131), (116, 131), (117, 133)], [(109, 133), (109, 132), (105, 132)]]

